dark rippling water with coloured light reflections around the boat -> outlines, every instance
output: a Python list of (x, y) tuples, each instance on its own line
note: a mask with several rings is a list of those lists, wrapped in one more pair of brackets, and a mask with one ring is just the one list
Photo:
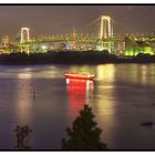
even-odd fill
[[(96, 79), (66, 84), (68, 71)], [(33, 149), (60, 149), (84, 104), (93, 107), (108, 148), (155, 149), (155, 126), (141, 125), (155, 122), (155, 64), (0, 65), (0, 149), (13, 148), (13, 130), (25, 124)]]

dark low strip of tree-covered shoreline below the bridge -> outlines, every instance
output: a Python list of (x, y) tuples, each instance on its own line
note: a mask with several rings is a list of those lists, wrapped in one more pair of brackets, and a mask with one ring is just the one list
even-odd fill
[(142, 54), (118, 58), (108, 52), (46, 52), (0, 54), (0, 64), (104, 64), (104, 63), (155, 63), (155, 55)]

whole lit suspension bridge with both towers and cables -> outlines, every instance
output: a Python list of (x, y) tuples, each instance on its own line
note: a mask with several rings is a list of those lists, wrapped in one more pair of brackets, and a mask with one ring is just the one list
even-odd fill
[[(30, 49), (39, 50), (41, 45), (44, 50), (107, 50), (111, 53), (124, 51), (126, 43), (135, 48), (142, 42), (153, 48), (155, 37), (153, 34), (145, 37), (144, 34), (127, 34), (110, 16), (101, 16), (82, 30), (74, 30), (71, 34), (34, 37), (30, 28), (21, 28), (13, 41), (13, 46), (28, 53)], [(50, 48), (46, 44), (50, 44)]]

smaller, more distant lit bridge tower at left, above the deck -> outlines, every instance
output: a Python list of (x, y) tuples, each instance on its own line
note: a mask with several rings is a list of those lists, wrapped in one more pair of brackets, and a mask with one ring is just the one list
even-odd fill
[(20, 32), (20, 43), (24, 43), (27, 41), (30, 41), (30, 29), (29, 28), (21, 28)]

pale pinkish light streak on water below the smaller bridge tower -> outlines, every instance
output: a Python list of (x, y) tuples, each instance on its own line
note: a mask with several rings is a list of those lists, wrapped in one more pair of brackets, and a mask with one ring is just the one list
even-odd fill
[[(32, 106), (33, 101), (35, 100), (33, 96), (33, 89), (32, 89), (32, 81), (31, 81), (32, 73), (28, 70), (23, 70), (22, 73), (18, 74), (17, 81), (17, 122), (19, 125), (31, 124), (32, 120)], [(25, 85), (22, 84), (22, 80), (24, 80)]]

